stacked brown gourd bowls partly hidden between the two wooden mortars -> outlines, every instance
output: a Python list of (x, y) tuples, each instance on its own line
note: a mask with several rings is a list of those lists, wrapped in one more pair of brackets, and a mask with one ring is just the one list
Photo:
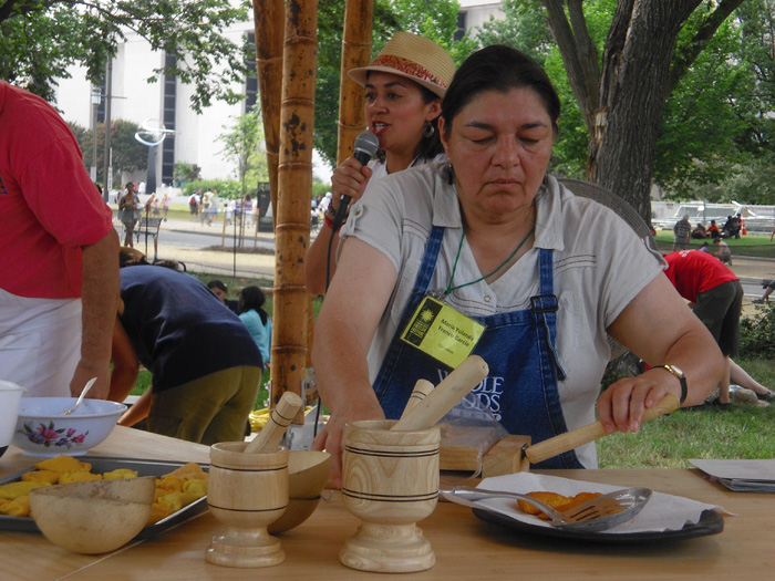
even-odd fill
[(269, 532), (285, 532), (307, 520), (320, 502), (320, 492), (331, 473), (331, 455), (327, 452), (297, 450), (288, 456), (288, 508)]

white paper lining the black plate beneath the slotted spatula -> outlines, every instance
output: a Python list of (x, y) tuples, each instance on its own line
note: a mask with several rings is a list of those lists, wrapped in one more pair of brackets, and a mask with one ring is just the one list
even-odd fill
[[(508, 492), (533, 492), (536, 490), (548, 490), (565, 496), (575, 496), (579, 492), (611, 492), (622, 488), (621, 486), (588, 483), (586, 480), (571, 480), (558, 476), (545, 476), (531, 473), (517, 473), (494, 478), (485, 478), (478, 488), (490, 490), (505, 490)], [(526, 515), (514, 499), (509, 498), (486, 498), (471, 502), (456, 498), (454, 495), (442, 492), (447, 500), (472, 508), (487, 507), (496, 512), (520, 520), (527, 525), (551, 528), (551, 525), (536, 516)], [(731, 515), (723, 508), (714, 505), (706, 505), (690, 498), (665, 495), (654, 491), (651, 499), (632, 520), (623, 522), (618, 527), (608, 529), (606, 533), (632, 533), (680, 530), (685, 525), (696, 525), (704, 510), (717, 510), (722, 513)]]

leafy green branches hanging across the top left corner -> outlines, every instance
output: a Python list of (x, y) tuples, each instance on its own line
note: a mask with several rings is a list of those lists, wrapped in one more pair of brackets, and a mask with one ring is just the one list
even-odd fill
[(100, 84), (108, 56), (133, 31), (176, 58), (148, 82), (170, 74), (194, 85), (196, 111), (217, 100), (236, 103), (241, 95), (230, 87), (244, 82), (252, 49), (221, 31), (245, 22), (249, 7), (248, 0), (0, 0), (0, 79), (46, 101), (72, 64), (85, 65), (89, 80)]

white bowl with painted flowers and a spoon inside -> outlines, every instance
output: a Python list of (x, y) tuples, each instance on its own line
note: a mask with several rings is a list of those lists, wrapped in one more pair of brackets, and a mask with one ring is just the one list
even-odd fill
[(11, 444), (31, 456), (83, 456), (104, 440), (126, 411), (124, 404), (84, 400), (69, 416), (75, 397), (22, 397)]

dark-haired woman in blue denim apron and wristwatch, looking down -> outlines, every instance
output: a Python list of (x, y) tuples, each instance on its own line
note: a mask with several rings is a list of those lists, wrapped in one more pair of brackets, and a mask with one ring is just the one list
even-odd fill
[[(483, 49), (442, 104), (450, 166), (388, 176), (352, 208), (312, 351), (331, 411), (313, 447), (332, 453), (334, 481), (348, 422), (399, 417), (416, 380), (438, 383), (440, 350), (401, 339), (430, 298), (484, 326), (473, 353), (490, 375), (475, 393), (509, 432), (534, 442), (593, 418), (609, 333), (654, 365), (597, 397), (609, 432), (637, 430), (643, 411), (669, 393), (700, 403), (720, 380), (712, 338), (629, 227), (546, 176), (559, 108), (528, 56)], [(582, 228), (590, 218), (595, 234)], [(583, 369), (588, 353), (597, 359)], [(570, 452), (541, 467), (593, 466), (586, 457)]]

